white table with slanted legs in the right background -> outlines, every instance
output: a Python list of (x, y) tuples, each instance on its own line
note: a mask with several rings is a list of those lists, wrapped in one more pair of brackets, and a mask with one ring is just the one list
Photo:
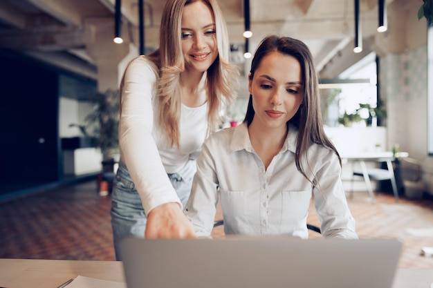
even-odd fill
[(398, 201), (398, 189), (396, 183), (396, 177), (394, 175), (394, 167), (392, 166), (392, 161), (396, 158), (408, 157), (408, 153), (399, 152), (394, 155), (392, 152), (372, 152), (372, 153), (353, 153), (340, 155), (343, 160), (351, 162), (359, 162), (362, 176), (364, 177), (365, 184), (367, 185), (367, 191), (370, 195), (371, 202), (374, 203), (373, 189), (371, 188), (371, 182), (369, 177), (369, 171), (365, 162), (386, 162), (387, 169), (389, 172), (389, 180), (391, 180), (392, 191), (394, 191), (394, 197)]

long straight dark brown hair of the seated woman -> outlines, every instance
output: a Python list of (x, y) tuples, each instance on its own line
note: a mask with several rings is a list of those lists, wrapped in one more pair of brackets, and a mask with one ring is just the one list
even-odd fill
[[(264, 38), (257, 48), (251, 62), (250, 79), (254, 77), (255, 70), (259, 67), (261, 60), (270, 52), (280, 52), (284, 55), (295, 57), (299, 61), (302, 70), (302, 83), (304, 83), (304, 100), (297, 113), (288, 120), (287, 124), (293, 124), (298, 128), (295, 163), (297, 170), (313, 183), (306, 175), (303, 159), (308, 166), (307, 151), (311, 143), (320, 144), (333, 150), (340, 161), (337, 149), (324, 133), (322, 113), (320, 111), (319, 84), (315, 72), (313, 56), (304, 42), (291, 37), (279, 37), (271, 35)], [(252, 95), (248, 102), (244, 122), (251, 124), (255, 112), (252, 107)]]

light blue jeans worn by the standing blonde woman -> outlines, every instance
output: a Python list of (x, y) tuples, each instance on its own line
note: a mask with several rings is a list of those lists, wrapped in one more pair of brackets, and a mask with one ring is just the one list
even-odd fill
[[(196, 162), (190, 160), (178, 173), (167, 174), (184, 207), (190, 197), (195, 172)], [(144, 238), (147, 222), (140, 195), (125, 164), (119, 165), (113, 181), (112, 202), (111, 227), (114, 249), (116, 259), (121, 261), (120, 242), (127, 236)]]

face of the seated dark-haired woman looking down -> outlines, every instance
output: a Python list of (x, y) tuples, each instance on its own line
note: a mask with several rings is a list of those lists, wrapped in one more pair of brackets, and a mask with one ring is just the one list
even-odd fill
[(261, 128), (286, 128), (304, 98), (302, 70), (295, 57), (270, 52), (249, 78), (255, 115), (251, 125)]

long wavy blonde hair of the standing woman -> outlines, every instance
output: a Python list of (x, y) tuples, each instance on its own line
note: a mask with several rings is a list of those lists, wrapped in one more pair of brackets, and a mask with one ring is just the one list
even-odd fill
[(181, 116), (181, 90), (179, 81), (185, 70), (181, 44), (181, 21), (185, 5), (203, 1), (214, 13), (216, 44), (219, 55), (208, 68), (205, 90), (208, 101), (208, 124), (212, 132), (221, 119), (220, 112), (237, 96), (239, 70), (229, 63), (230, 43), (228, 31), (216, 0), (168, 0), (160, 25), (160, 45), (148, 57), (160, 70), (158, 83), (159, 123), (170, 144), (179, 146), (179, 119)]

